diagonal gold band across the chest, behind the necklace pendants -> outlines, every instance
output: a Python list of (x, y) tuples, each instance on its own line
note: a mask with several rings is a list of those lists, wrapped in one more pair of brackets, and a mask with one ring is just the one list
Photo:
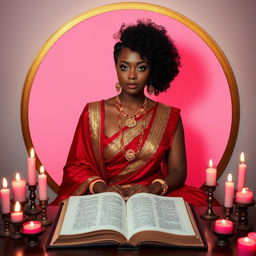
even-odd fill
[[(149, 122), (152, 118), (153, 112), (151, 111), (146, 116), (146, 127), (148, 127)], [(134, 127), (133, 129), (127, 129), (124, 131), (124, 145), (129, 144), (136, 136), (140, 134), (141, 131), (141, 123), (142, 119), (138, 121), (138, 125)], [(105, 159), (111, 159), (116, 154), (120, 152), (120, 136), (117, 136), (111, 143), (109, 143), (106, 148), (104, 149), (104, 158)]]

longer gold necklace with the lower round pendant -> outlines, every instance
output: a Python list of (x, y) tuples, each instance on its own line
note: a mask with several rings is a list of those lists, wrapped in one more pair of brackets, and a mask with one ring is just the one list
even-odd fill
[[(136, 151), (135, 151), (133, 149), (127, 149), (127, 150), (125, 149), (124, 133), (123, 133), (122, 119), (121, 119), (121, 113), (122, 112), (121, 112), (118, 105), (119, 104), (116, 104), (116, 109), (117, 109), (117, 114), (118, 114), (118, 124), (119, 124), (119, 130), (120, 130), (120, 148), (121, 148), (121, 151), (123, 152), (126, 160), (129, 161), (129, 162), (132, 162), (132, 161), (136, 160), (136, 158), (138, 157), (138, 155), (141, 151), (141, 148), (142, 148), (142, 141), (143, 141), (143, 137), (144, 137), (144, 129), (146, 127), (146, 113), (145, 112), (146, 112), (147, 108), (144, 108), (143, 112), (140, 112), (140, 114), (144, 113), (144, 116), (143, 116), (143, 119), (142, 119), (142, 122), (141, 122), (141, 132), (140, 132), (139, 142), (138, 142), (138, 145), (137, 145), (137, 148), (136, 148)], [(138, 115), (138, 113), (136, 115)], [(136, 125), (137, 125), (137, 121), (136, 121)], [(129, 128), (132, 128), (132, 127), (129, 127)]]

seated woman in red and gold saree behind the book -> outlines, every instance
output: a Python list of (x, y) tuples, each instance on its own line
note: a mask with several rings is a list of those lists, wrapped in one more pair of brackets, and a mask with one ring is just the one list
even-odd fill
[(169, 88), (180, 57), (164, 27), (122, 25), (114, 46), (118, 95), (85, 106), (70, 148), (58, 203), (70, 195), (147, 192), (207, 205), (185, 186), (186, 150), (180, 110), (147, 98)]

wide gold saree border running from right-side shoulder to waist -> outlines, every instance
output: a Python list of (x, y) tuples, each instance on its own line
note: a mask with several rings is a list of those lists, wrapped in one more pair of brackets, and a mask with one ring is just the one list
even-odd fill
[(139, 168), (141, 168), (148, 161), (149, 158), (151, 158), (155, 154), (162, 140), (164, 131), (166, 129), (170, 112), (170, 107), (165, 106), (163, 104), (159, 104), (153, 126), (151, 128), (151, 131), (148, 135), (146, 142), (144, 143), (141, 149), (139, 159), (127, 165), (127, 167), (116, 176), (114, 181), (119, 181), (124, 175), (128, 173), (129, 175), (131, 173), (134, 173)]

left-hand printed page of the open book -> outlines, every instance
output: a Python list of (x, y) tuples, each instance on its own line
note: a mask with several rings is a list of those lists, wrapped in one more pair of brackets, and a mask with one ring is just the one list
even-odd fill
[(114, 230), (125, 235), (126, 208), (117, 193), (71, 196), (60, 235)]

